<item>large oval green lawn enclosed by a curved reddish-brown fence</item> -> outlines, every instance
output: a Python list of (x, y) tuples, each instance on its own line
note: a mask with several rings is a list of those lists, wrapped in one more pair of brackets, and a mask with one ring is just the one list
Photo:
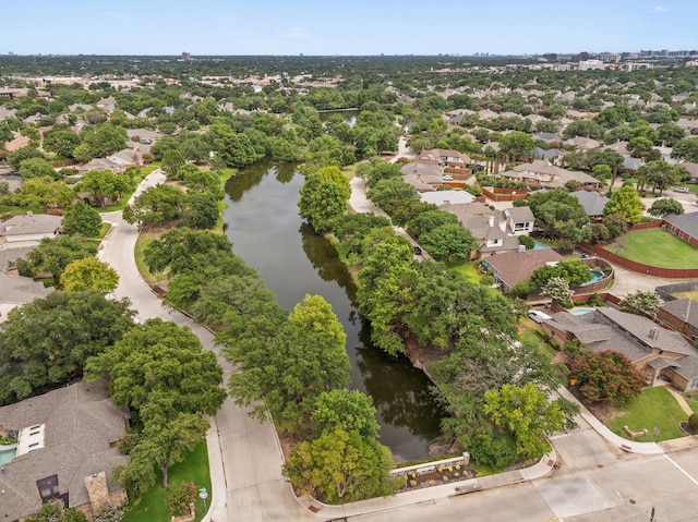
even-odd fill
[(663, 229), (628, 232), (607, 248), (627, 259), (662, 268), (698, 268), (698, 250)]

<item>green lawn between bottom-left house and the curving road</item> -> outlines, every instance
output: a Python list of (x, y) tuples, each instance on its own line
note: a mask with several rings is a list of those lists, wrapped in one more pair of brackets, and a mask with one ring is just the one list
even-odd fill
[[(123, 522), (167, 522), (170, 520), (169, 508), (165, 505), (165, 490), (160, 488), (161, 473), (157, 471), (157, 483), (148, 489), (143, 497), (131, 502), (131, 509), (123, 517)], [(208, 473), (208, 451), (206, 441), (196, 445), (183, 462), (173, 465), (169, 470), (168, 483), (178, 486), (185, 482), (193, 482), (197, 488), (205, 487), (208, 491), (206, 507), (210, 507), (210, 474)], [(201, 521), (206, 514), (204, 501), (196, 497), (195, 522)]]

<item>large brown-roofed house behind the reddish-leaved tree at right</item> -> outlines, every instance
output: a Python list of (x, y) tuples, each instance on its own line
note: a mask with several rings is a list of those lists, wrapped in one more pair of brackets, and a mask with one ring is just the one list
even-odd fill
[(679, 391), (698, 389), (698, 349), (647, 317), (600, 307), (585, 315), (559, 312), (542, 327), (559, 345), (577, 339), (593, 352), (623, 353), (647, 385), (661, 377)]

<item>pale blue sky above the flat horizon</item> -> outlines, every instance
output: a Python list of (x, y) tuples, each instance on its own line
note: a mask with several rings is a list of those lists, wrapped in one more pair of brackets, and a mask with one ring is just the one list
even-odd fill
[(697, 0), (0, 1), (0, 54), (537, 54), (698, 49)]

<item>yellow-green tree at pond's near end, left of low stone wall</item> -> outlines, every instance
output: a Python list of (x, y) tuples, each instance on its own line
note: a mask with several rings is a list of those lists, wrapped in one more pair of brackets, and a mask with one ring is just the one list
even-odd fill
[(358, 432), (335, 428), (293, 447), (284, 474), (299, 494), (318, 491), (330, 503), (395, 493), (390, 451)]

